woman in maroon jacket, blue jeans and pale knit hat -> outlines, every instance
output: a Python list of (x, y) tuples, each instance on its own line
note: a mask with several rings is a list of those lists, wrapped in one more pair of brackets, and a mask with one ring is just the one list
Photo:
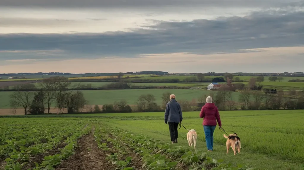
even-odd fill
[(199, 117), (204, 118), (203, 126), (204, 126), (207, 148), (208, 148), (208, 151), (212, 151), (213, 150), (213, 132), (216, 127), (216, 121), (218, 122), (219, 127), (222, 127), (221, 118), (219, 116), (219, 110), (214, 105), (214, 103), (212, 103), (212, 97), (208, 96), (206, 98), (206, 104), (202, 107)]

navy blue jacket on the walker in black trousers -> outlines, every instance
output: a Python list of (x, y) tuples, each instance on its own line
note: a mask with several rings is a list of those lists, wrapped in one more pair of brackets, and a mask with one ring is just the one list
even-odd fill
[(166, 105), (165, 122), (179, 123), (182, 120), (181, 106), (175, 99), (171, 99)]

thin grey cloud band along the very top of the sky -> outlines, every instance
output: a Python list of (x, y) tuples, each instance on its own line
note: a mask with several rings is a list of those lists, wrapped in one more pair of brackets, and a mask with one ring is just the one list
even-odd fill
[(2, 0), (0, 6), (136, 8), (164, 6), (263, 7), (299, 0)]

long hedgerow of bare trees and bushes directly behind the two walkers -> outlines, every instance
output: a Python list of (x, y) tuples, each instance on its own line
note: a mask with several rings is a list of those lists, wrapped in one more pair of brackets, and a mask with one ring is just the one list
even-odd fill
[[(288, 93), (294, 93), (290, 91)], [(303, 93), (303, 92), (302, 92)], [(283, 96), (281, 91), (277, 94), (264, 94), (263, 92), (253, 92), (249, 88), (244, 89), (239, 100), (235, 101), (232, 97), (232, 91), (221, 88), (218, 92), (210, 92), (209, 96), (219, 110), (278, 110), (278, 109), (304, 109), (304, 98), (291, 99)], [(166, 92), (161, 96), (161, 105), (157, 104), (153, 94), (140, 95), (136, 105), (130, 106), (126, 100), (116, 101), (113, 104), (105, 104), (100, 109), (98, 105), (87, 106), (88, 113), (130, 113), (130, 112), (164, 112), (166, 104), (170, 101), (171, 93)], [(303, 94), (302, 94), (303, 95)], [(205, 105), (208, 95), (201, 95), (199, 98), (178, 99), (183, 112), (200, 111)], [(89, 109), (88, 109), (89, 108)], [(94, 109), (93, 109), (94, 108)]]

